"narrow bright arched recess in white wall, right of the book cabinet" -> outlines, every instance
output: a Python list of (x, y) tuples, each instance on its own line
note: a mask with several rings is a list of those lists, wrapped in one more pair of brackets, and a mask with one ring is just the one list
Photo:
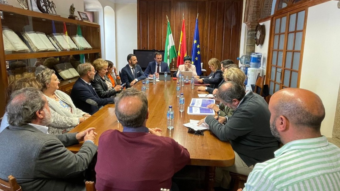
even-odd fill
[(116, 26), (115, 11), (110, 6), (104, 7), (105, 59), (116, 63)]

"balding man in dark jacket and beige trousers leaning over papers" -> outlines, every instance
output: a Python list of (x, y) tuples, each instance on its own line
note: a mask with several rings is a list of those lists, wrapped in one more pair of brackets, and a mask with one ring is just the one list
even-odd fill
[(208, 116), (200, 123), (207, 123), (210, 131), (220, 140), (229, 141), (235, 153), (231, 167), (216, 168), (215, 186), (227, 189), (231, 177), (229, 172), (249, 175), (258, 162), (274, 158), (278, 141), (270, 132), (268, 104), (258, 94), (244, 91), (235, 82), (226, 82), (218, 88), (217, 99), (234, 109), (232, 116)]

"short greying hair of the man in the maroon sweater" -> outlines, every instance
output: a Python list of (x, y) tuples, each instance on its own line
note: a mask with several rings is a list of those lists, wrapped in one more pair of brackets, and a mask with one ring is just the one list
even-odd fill
[[(123, 106), (120, 106), (120, 101), (128, 97), (139, 99), (141, 104), (122, 108)], [(137, 108), (138, 106), (139, 108)], [(115, 98), (115, 107), (117, 119), (124, 127), (140, 127), (147, 117), (148, 99), (145, 93), (136, 88), (128, 88), (117, 95)]]

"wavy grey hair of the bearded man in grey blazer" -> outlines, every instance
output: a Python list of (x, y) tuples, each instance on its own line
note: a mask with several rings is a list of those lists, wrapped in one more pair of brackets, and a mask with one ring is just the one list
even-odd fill
[(43, 96), (43, 92), (32, 87), (14, 91), (6, 106), (8, 123), (22, 126), (35, 120), (37, 118), (35, 113), (46, 104)]

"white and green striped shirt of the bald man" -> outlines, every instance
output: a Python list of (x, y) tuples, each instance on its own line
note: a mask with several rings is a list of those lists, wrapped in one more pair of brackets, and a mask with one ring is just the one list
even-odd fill
[(257, 163), (243, 191), (340, 191), (340, 149), (325, 136), (291, 141)]

